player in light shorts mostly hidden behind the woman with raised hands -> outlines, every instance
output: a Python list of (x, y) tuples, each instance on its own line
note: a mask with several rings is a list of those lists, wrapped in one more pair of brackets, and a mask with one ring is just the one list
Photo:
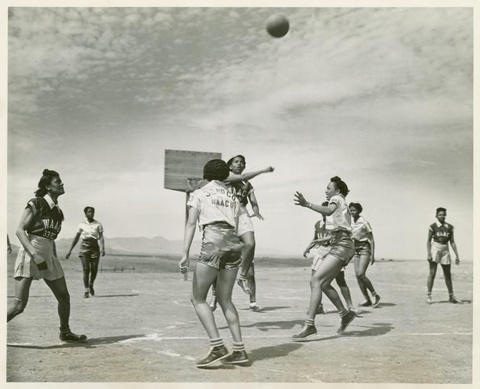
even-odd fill
[[(322, 206), (327, 207), (328, 201), (324, 201)], [(303, 256), (307, 259), (312, 259), (312, 277), (315, 271), (320, 266), (320, 261), (328, 254), (331, 248), (331, 240), (332, 235), (326, 229), (326, 217), (322, 215), (323, 218), (315, 223), (315, 232), (313, 235), (313, 240), (305, 249)], [(347, 282), (345, 280), (345, 267), (342, 267), (342, 270), (338, 275), (335, 277), (335, 281), (337, 282), (338, 287), (340, 288), (340, 292), (342, 293), (345, 302), (347, 303), (348, 309), (352, 312), (355, 312), (352, 303), (352, 297), (350, 294), (350, 289), (348, 288)], [(320, 291), (320, 293), (322, 293)], [(320, 295), (320, 304), (318, 305), (317, 315), (321, 313), (325, 313), (322, 305), (322, 295)]]

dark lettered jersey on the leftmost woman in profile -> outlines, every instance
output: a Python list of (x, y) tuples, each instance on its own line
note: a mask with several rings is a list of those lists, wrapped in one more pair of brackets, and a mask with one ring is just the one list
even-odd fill
[(26, 208), (33, 213), (32, 221), (26, 228), (27, 233), (55, 240), (62, 229), (62, 210), (53, 203), (49, 204), (43, 197), (31, 199)]

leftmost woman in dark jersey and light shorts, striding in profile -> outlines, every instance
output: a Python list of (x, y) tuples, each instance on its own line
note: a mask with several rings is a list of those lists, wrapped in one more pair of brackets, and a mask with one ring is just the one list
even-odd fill
[(15, 303), (8, 309), (7, 322), (27, 306), (32, 280), (43, 278), (58, 301), (60, 340), (84, 342), (87, 340), (85, 335), (70, 331), (70, 294), (55, 248), (55, 239), (64, 219), (58, 197), (64, 193), (59, 174), (45, 169), (35, 197), (27, 203), (16, 232), (22, 247), (15, 262)]

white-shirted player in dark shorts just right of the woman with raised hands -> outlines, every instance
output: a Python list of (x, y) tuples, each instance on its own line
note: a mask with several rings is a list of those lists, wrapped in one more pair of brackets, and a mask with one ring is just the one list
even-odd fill
[[(360, 304), (361, 307), (376, 308), (380, 304), (380, 296), (375, 291), (370, 279), (365, 275), (368, 265), (375, 263), (375, 240), (370, 223), (360, 214), (363, 207), (360, 203), (350, 203), (350, 214), (352, 215), (352, 237), (355, 242), (355, 256), (353, 257), (355, 265), (355, 275), (358, 286), (365, 298)], [(368, 292), (372, 294), (373, 304)]]

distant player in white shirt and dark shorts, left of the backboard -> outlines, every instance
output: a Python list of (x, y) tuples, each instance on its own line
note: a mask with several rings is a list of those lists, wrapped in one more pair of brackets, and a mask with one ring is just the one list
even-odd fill
[(85, 287), (83, 297), (88, 298), (89, 294), (95, 296), (93, 284), (97, 278), (100, 255), (102, 257), (105, 256), (105, 241), (103, 239), (102, 224), (93, 218), (95, 216), (95, 208), (85, 207), (83, 212), (85, 213), (87, 220), (80, 223), (78, 226), (77, 235), (75, 235), (75, 238), (73, 239), (72, 246), (70, 247), (66, 258), (68, 259), (70, 257), (73, 248), (80, 237), (82, 237), (80, 253), (78, 256), (82, 261), (83, 268), (83, 286)]

